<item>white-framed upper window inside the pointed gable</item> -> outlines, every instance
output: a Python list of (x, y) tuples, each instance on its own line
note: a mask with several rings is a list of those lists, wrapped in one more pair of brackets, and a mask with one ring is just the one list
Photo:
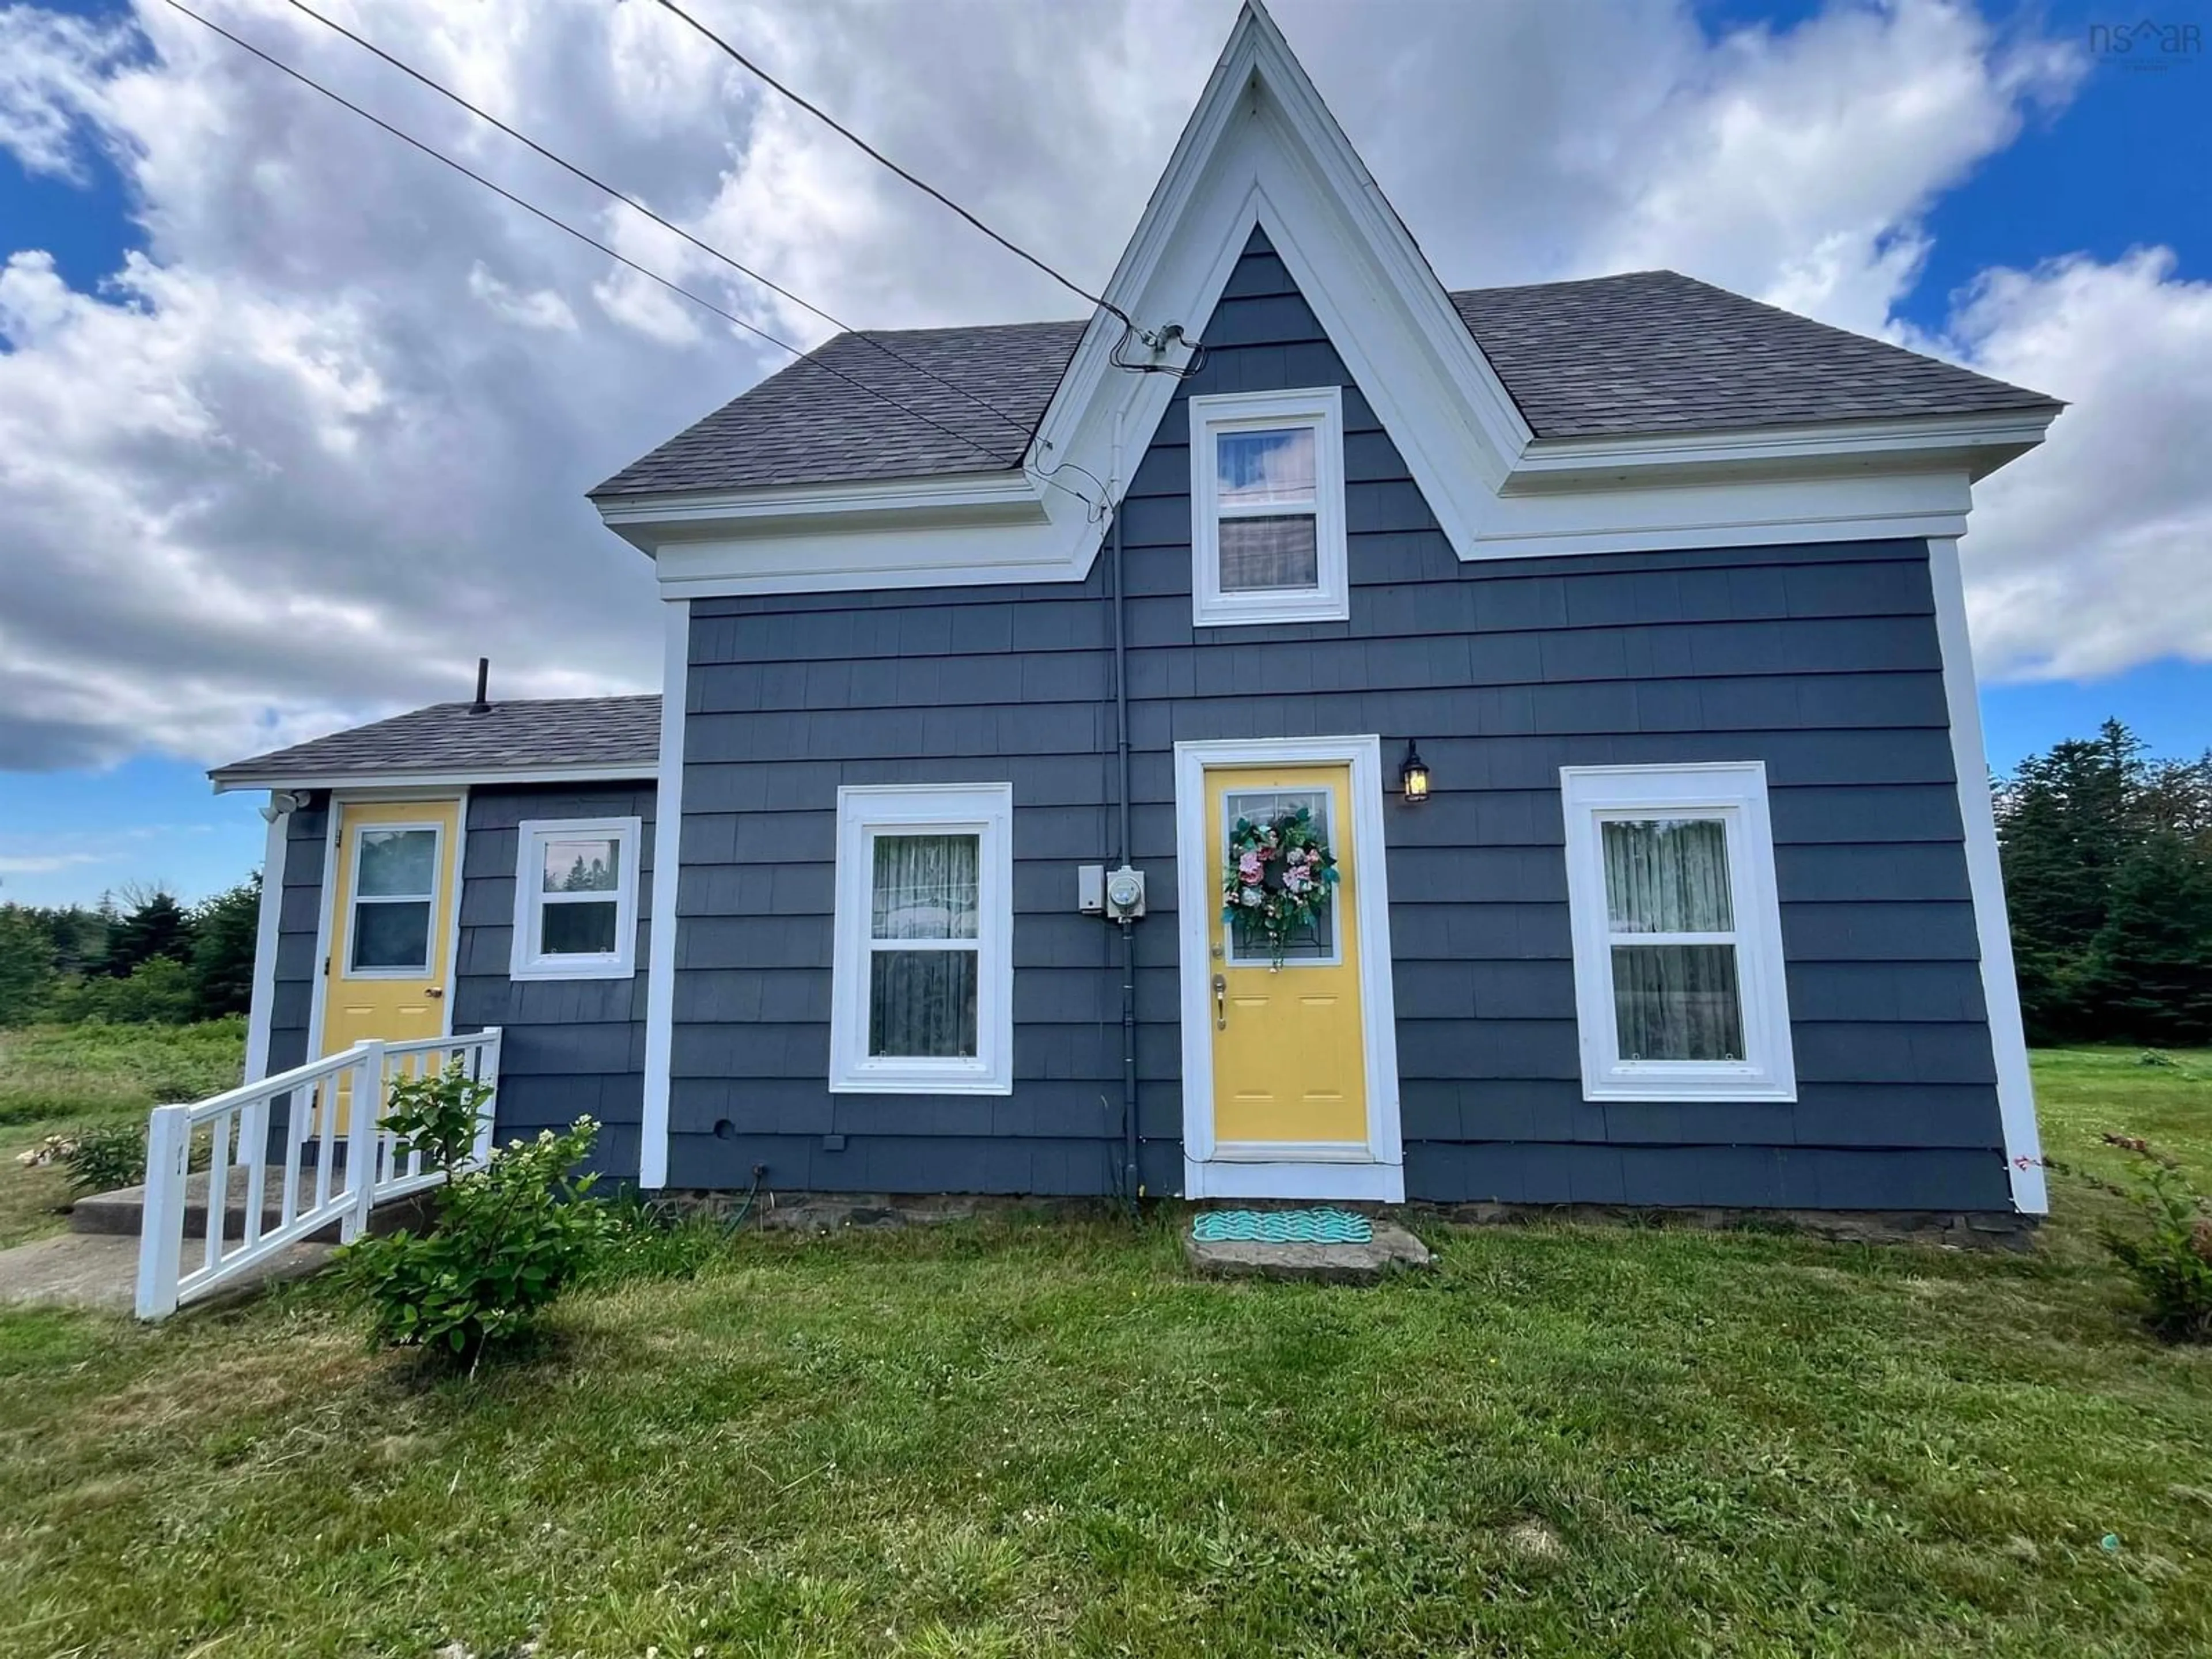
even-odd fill
[(1201, 628), (1352, 615), (1338, 387), (1190, 398), (1190, 553)]

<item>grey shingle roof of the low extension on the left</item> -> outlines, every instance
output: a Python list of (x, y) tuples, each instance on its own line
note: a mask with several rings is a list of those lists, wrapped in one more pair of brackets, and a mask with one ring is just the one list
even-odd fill
[(431, 703), (411, 714), (332, 732), (288, 750), (221, 765), (217, 783), (361, 776), (380, 772), (526, 772), (564, 765), (635, 765), (650, 776), (661, 752), (661, 699), (549, 697), (493, 703)]

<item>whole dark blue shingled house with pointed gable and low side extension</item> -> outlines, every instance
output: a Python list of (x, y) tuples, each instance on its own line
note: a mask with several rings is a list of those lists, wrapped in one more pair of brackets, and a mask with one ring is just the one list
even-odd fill
[(1104, 294), (599, 484), (664, 697), (221, 768), (254, 1075), (500, 1026), (646, 1188), (2042, 1212), (1958, 540), (2053, 398), (1447, 290), (1256, 7)]

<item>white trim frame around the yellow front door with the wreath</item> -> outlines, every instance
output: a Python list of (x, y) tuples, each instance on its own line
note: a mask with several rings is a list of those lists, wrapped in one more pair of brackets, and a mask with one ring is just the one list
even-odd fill
[[(1210, 918), (1219, 905), (1219, 856), (1206, 838), (1206, 772), (1230, 765), (1349, 765), (1354, 883), (1360, 940), (1360, 1018), (1367, 1040), (1367, 1155), (1327, 1148), (1314, 1161), (1263, 1161), (1256, 1148), (1214, 1148), (1214, 1051)], [(1186, 1199), (1405, 1199), (1398, 1130), (1398, 1004), (1391, 987), (1389, 856), (1383, 834), (1380, 737), (1234, 737), (1175, 745), (1175, 891), (1183, 1048)]]

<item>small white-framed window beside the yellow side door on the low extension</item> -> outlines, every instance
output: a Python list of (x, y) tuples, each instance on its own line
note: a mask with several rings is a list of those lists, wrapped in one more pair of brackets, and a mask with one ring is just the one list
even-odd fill
[(526, 818), (518, 827), (515, 980), (637, 973), (637, 818)]

